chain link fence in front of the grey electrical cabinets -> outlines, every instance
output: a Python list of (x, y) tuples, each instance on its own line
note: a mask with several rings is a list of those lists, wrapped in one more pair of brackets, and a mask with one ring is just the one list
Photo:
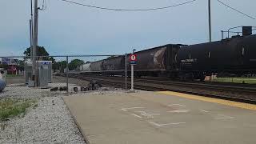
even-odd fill
[(0, 97), (43, 97), (56, 91), (70, 94), (104, 86), (127, 89), (126, 54), (39, 56), (36, 77), (32, 65), (26, 56), (0, 57), (0, 78), (6, 82)]

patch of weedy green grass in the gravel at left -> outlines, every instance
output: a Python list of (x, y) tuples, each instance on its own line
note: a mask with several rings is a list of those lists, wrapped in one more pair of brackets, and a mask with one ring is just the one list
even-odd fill
[(0, 100), (0, 121), (14, 118), (26, 113), (26, 109), (33, 106), (36, 101), (33, 99), (12, 99), (3, 98)]

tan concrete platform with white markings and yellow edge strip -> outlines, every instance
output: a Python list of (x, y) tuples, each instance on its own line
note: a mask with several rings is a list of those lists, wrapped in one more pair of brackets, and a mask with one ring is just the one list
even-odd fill
[(254, 105), (144, 91), (76, 94), (64, 100), (91, 144), (256, 143)]

